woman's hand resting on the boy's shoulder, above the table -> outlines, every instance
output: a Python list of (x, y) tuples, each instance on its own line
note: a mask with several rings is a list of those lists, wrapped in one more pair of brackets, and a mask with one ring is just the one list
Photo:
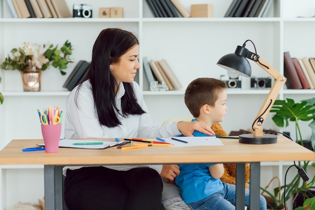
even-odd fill
[(184, 135), (184, 136), (193, 136), (194, 131), (199, 131), (201, 133), (204, 133), (208, 136), (215, 135), (214, 131), (205, 124), (204, 122), (178, 122), (177, 123), (178, 130)]

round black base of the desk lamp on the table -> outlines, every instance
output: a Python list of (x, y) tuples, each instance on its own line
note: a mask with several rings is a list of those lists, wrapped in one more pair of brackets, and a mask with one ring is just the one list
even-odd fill
[(256, 137), (254, 134), (242, 134), (239, 137), (239, 142), (243, 144), (274, 144), (277, 143), (277, 135), (263, 134), (261, 137)]

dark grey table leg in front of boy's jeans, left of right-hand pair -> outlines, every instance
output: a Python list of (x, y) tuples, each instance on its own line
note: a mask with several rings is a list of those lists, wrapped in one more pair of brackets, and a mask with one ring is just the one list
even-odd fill
[[(245, 206), (245, 163), (237, 163), (236, 169), (236, 210), (244, 210)], [(256, 208), (253, 208), (256, 209)]]

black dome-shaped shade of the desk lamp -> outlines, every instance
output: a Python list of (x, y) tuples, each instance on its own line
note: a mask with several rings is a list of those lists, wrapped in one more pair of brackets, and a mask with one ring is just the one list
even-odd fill
[(235, 53), (224, 55), (216, 64), (228, 71), (235, 71), (241, 76), (251, 77), (252, 75), (252, 68), (248, 60)]

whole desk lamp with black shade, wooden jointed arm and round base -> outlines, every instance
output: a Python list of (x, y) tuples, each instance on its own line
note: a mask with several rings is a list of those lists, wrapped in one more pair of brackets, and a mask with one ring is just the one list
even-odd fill
[(246, 43), (251, 40), (246, 40), (243, 46), (238, 46), (234, 53), (224, 55), (219, 59), (217, 65), (225, 68), (230, 78), (237, 78), (239, 75), (245, 77), (251, 77), (252, 68), (249, 61), (250, 59), (264, 69), (269, 75), (271, 75), (275, 81), (259, 111), (255, 121), (252, 125), (254, 130), (253, 134), (242, 134), (239, 136), (239, 142), (245, 144), (272, 144), (277, 142), (277, 136), (273, 134), (263, 133), (263, 123), (269, 114), (271, 107), (274, 104), (282, 86), (286, 82), (286, 78), (281, 75), (276, 69), (270, 66), (259, 55), (257, 55), (256, 47), (254, 43), (255, 53), (245, 48)]

